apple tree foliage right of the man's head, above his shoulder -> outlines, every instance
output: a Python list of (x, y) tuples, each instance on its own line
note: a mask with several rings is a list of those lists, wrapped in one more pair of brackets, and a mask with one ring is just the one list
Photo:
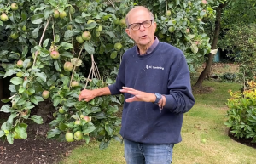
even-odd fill
[[(148, 1), (139, 1), (148, 6)], [(157, 18), (156, 36), (163, 42), (170, 42), (180, 48), (187, 59), (190, 71), (204, 62), (204, 55), (210, 52), (209, 37), (204, 31), (204, 21), (213, 17), (209, 4), (198, 0), (158, 0), (149, 5)], [(167, 15), (166, 11), (171, 14)]]

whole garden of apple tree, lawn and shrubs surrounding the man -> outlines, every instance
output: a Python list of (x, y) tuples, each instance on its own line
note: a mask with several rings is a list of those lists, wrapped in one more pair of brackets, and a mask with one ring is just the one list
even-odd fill
[[(125, 14), (146, 4), (155, 35), (185, 54), (196, 101), (173, 163), (255, 161), (253, 0), (1, 0), (0, 163), (125, 163), (123, 96), (78, 97), (114, 82), (134, 46)], [(230, 60), (214, 63), (218, 48)]]

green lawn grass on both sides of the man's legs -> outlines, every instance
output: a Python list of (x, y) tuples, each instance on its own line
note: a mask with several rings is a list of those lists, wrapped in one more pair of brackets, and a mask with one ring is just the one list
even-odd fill
[[(180, 144), (175, 144), (173, 164), (253, 164), (256, 150), (236, 143), (228, 137), (224, 126), (225, 105), (229, 89), (239, 90), (236, 83), (204, 82), (212, 93), (196, 94), (195, 106), (185, 114)], [(201, 139), (205, 139), (203, 143)], [(112, 141), (106, 150), (99, 150), (99, 143), (80, 146), (65, 157), (60, 164), (93, 163), (125, 164), (124, 144)]]

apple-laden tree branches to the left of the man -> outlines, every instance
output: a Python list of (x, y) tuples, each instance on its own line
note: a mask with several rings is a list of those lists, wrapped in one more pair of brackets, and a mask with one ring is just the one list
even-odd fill
[[(9, 113), (1, 139), (10, 144), (26, 139), (28, 124), (44, 126), (50, 112), (54, 119), (46, 129), (48, 138), (95, 138), (102, 148), (110, 139), (119, 139), (116, 112), (123, 97), (105, 96), (89, 103), (78, 97), (83, 88), (113, 83), (109, 70), (133, 45), (123, 32), (128, 5), (129, 1), (1, 1), (0, 75), (12, 76), (11, 97), (3, 99), (6, 105), (0, 110)], [(107, 71), (101, 76), (103, 68)]]

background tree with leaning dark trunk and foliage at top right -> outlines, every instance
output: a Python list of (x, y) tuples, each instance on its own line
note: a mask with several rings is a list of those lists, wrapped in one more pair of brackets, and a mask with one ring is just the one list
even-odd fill
[[(251, 24), (254, 19), (253, 15), (255, 15), (255, 9), (253, 9), (255, 5), (254, 0), (249, 1), (216, 1), (210, 3), (217, 5), (216, 8), (213, 8), (216, 11), (216, 20), (215, 20), (215, 28), (212, 37), (212, 48), (218, 48), (218, 37), (221, 31), (232, 28), (232, 26), (236, 26), (238, 24)], [(250, 8), (250, 9), (249, 9)], [(224, 19), (224, 20), (222, 20)], [(222, 26), (221, 26), (222, 25)], [(208, 33), (208, 35), (211, 33)], [(204, 70), (201, 72), (197, 82), (195, 83), (195, 87), (201, 88), (202, 82), (207, 77), (207, 75), (211, 71), (212, 59), (214, 54), (207, 54), (207, 65)]]

